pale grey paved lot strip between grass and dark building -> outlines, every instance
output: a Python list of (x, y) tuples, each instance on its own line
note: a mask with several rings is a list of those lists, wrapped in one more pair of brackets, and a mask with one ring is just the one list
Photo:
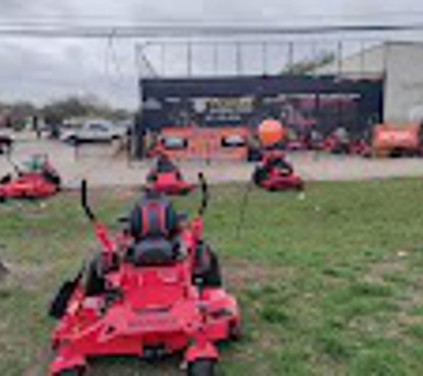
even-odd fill
[[(36, 140), (32, 135), (19, 135), (12, 159), (19, 163), (32, 154), (48, 154), (53, 165), (63, 176), (64, 185), (72, 188), (85, 177), (91, 185), (137, 185), (144, 182), (150, 162), (128, 161), (125, 152), (118, 152), (110, 145), (85, 145), (79, 150), (58, 141)], [(401, 176), (423, 176), (423, 160), (363, 159), (361, 157), (331, 156), (324, 153), (296, 152), (289, 154), (297, 172), (305, 180), (356, 180)], [(233, 161), (183, 161), (183, 173), (194, 179), (204, 171), (208, 180), (242, 182), (251, 176), (251, 163)], [(12, 167), (0, 156), (0, 176)]]

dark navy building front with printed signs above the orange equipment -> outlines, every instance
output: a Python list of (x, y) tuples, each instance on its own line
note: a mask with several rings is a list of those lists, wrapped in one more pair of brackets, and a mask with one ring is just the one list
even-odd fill
[(383, 79), (335, 76), (142, 79), (136, 140), (163, 127), (256, 127), (266, 118), (323, 134), (339, 126), (360, 133), (382, 119), (383, 87)]

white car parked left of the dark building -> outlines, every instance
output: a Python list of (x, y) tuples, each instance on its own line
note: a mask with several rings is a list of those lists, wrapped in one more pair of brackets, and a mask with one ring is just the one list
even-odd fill
[(109, 143), (123, 139), (126, 128), (117, 127), (109, 120), (88, 120), (77, 129), (67, 130), (61, 134), (65, 143)]

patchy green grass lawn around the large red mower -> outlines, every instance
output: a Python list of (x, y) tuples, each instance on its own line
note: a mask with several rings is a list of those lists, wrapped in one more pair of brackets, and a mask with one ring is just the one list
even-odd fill
[[(253, 191), (240, 237), (243, 187), (212, 189), (207, 238), (240, 299), (245, 337), (222, 349), (219, 374), (423, 374), (423, 182), (313, 183), (305, 197)], [(137, 192), (94, 191), (118, 227)], [(191, 198), (177, 200), (192, 211)], [(96, 248), (76, 193), (45, 207), (0, 207), (0, 370), (45, 373), (53, 291)], [(176, 370), (176, 371), (175, 371)], [(177, 361), (96, 364), (93, 375), (181, 374)]]

